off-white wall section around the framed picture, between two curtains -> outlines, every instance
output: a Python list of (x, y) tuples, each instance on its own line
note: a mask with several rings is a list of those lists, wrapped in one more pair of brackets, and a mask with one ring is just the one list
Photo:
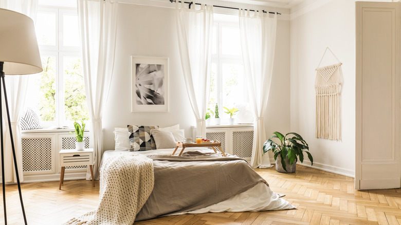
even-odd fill
[[(114, 149), (114, 127), (179, 123), (191, 135), (194, 120), (187, 97), (176, 40), (174, 10), (120, 4), (113, 80), (103, 115), (104, 149)], [(131, 55), (169, 58), (170, 110), (166, 113), (131, 113)]]

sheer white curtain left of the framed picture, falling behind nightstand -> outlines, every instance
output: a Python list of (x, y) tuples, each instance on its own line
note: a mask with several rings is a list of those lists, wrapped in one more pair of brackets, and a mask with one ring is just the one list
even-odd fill
[[(78, 19), (82, 41), (82, 62), (86, 102), (94, 148), (95, 179), (103, 153), (102, 112), (107, 100), (114, 68), (118, 1), (78, 0)], [(86, 174), (89, 180), (90, 173)]]

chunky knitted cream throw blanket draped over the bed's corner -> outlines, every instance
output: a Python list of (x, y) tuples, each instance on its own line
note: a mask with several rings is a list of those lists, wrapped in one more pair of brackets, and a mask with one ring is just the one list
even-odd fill
[(132, 225), (153, 185), (152, 159), (139, 154), (111, 157), (100, 170), (98, 208), (65, 224)]

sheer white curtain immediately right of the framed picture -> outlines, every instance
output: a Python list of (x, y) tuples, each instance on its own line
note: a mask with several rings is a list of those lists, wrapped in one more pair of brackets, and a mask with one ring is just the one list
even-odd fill
[(206, 105), (209, 99), (213, 6), (184, 8), (176, 1), (177, 36), (185, 85), (196, 118), (196, 135), (206, 138)]

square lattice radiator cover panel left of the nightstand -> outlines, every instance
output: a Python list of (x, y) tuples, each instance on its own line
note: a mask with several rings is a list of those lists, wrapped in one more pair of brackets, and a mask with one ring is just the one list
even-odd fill
[(51, 138), (22, 139), (23, 171), (51, 171)]

